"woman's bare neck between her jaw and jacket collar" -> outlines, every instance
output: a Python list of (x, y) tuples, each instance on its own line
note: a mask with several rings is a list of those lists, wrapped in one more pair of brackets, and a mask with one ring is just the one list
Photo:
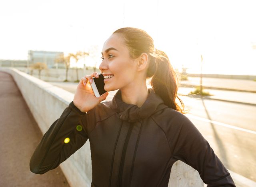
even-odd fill
[(137, 105), (141, 107), (148, 97), (148, 88), (143, 83), (142, 85), (130, 86), (130, 88), (121, 89), (122, 101), (128, 104)]

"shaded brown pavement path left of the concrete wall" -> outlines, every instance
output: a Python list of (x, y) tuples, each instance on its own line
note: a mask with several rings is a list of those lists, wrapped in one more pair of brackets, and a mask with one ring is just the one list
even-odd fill
[(60, 167), (37, 175), (29, 161), (42, 133), (12, 76), (0, 71), (0, 186), (69, 187)]

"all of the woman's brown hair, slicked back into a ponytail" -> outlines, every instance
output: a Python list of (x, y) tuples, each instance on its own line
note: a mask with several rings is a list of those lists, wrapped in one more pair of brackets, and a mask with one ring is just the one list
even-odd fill
[[(154, 92), (163, 99), (165, 105), (185, 113), (184, 103), (177, 95), (178, 77), (166, 53), (154, 48), (154, 40), (144, 30), (126, 27), (116, 30), (113, 34), (115, 33), (124, 37), (131, 58), (138, 58), (144, 52), (148, 54), (150, 64), (147, 78), (152, 77), (150, 84)], [(176, 97), (182, 108), (176, 103)]]

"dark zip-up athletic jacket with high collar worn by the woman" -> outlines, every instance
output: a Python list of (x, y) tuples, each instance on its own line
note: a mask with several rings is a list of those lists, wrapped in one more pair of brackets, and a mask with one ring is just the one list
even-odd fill
[(30, 170), (43, 174), (56, 168), (89, 139), (92, 187), (167, 187), (177, 160), (196, 169), (209, 187), (234, 187), (194, 124), (148, 92), (141, 107), (124, 103), (120, 90), (87, 113), (72, 101), (42, 137)]

